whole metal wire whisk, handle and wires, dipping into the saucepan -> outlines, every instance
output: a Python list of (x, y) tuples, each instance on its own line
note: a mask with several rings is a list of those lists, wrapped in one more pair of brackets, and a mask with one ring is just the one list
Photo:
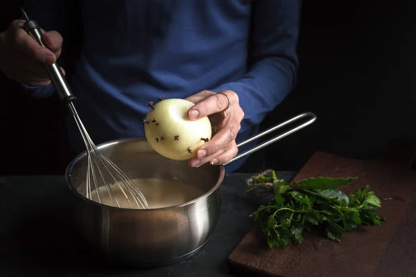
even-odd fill
[[(31, 20), (26, 15), (23, 8), (20, 8), (24, 19), (24, 29), (31, 35), (40, 46), (46, 47), (42, 33), (35, 20)], [(94, 200), (100, 204), (107, 204), (116, 206), (119, 208), (148, 208), (148, 203), (143, 193), (137, 188), (135, 183), (123, 173), (110, 159), (105, 157), (96, 147), (92, 139), (89, 137), (87, 129), (85, 129), (83, 122), (80, 120), (78, 113), (73, 105), (73, 101), (76, 100), (76, 96), (73, 95), (69, 85), (60, 70), (58, 64), (51, 64), (46, 66), (46, 71), (51, 79), (55, 92), (58, 94), (60, 100), (67, 105), (71, 115), (76, 121), (76, 125), (80, 131), (81, 136), (86, 148), (87, 153), (87, 176), (85, 179), (86, 193), (85, 196), (88, 199)], [(121, 192), (121, 195), (125, 197), (128, 205), (121, 205), (116, 197), (114, 190)], [(108, 193), (111, 203), (103, 201), (102, 193)], [(96, 196), (96, 200), (94, 199)], [(119, 193), (117, 193), (119, 195)], [(125, 203), (124, 199), (122, 201)]]

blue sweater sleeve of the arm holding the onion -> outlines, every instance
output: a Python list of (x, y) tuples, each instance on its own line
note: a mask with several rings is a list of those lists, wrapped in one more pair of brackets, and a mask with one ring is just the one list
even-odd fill
[(296, 82), (301, 0), (253, 1), (249, 69), (242, 78), (211, 89), (239, 95), (245, 127), (258, 125)]

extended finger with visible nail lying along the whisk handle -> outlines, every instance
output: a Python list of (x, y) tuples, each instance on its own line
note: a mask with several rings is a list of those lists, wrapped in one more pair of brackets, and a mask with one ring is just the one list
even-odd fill
[(15, 46), (37, 62), (53, 64), (56, 61), (54, 53), (48, 48), (40, 46), (31, 35), (28, 35), (23, 28), (23, 24), (24, 21), (13, 21), (11, 24), (11, 35)]

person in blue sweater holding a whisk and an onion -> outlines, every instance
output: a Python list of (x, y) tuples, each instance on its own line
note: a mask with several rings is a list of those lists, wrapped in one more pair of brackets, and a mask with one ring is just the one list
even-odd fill
[[(191, 120), (221, 116), (190, 166), (227, 163), (296, 82), (300, 0), (26, 0), (24, 9), (42, 27), (48, 48), (16, 19), (0, 33), (1, 71), (24, 93), (45, 98), (54, 89), (44, 64), (58, 62), (71, 76), (78, 114), (96, 144), (143, 137), (150, 100), (185, 98), (196, 104)], [(80, 30), (73, 30), (76, 21)], [(67, 72), (74, 41), (80, 54)], [(67, 127), (73, 149), (85, 150), (70, 116)]]

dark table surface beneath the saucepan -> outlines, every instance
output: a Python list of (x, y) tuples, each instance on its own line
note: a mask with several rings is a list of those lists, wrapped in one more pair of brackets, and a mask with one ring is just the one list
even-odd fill
[[(278, 175), (290, 181), (295, 173)], [(105, 267), (80, 242), (63, 176), (0, 177), (0, 276), (231, 276), (227, 257), (254, 226), (248, 215), (265, 201), (245, 194), (250, 176), (223, 181), (220, 220), (199, 253), (168, 267), (128, 270)]]

